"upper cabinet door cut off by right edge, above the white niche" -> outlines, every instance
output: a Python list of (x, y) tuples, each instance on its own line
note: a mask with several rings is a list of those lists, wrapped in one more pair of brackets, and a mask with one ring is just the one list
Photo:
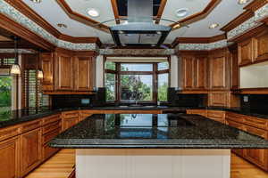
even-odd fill
[(268, 60), (268, 32), (255, 36), (255, 61)]

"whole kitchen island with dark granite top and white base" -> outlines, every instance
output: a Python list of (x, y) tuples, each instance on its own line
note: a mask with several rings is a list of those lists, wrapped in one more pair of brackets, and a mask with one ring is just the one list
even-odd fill
[(76, 149), (78, 178), (229, 178), (230, 149), (268, 142), (197, 115), (112, 114), (86, 118), (50, 146)]

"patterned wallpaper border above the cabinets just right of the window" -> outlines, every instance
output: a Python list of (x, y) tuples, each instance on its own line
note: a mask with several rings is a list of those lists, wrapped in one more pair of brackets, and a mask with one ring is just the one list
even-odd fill
[(226, 47), (227, 40), (221, 40), (218, 42), (210, 43), (210, 44), (179, 44), (177, 45), (176, 50), (194, 50), (194, 51), (209, 51), (222, 47)]

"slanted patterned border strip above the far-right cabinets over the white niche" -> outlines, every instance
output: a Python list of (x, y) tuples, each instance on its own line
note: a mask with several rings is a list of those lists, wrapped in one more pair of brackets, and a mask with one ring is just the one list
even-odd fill
[(227, 38), (233, 38), (234, 36), (239, 36), (240, 34), (246, 32), (251, 28), (255, 28), (259, 23), (255, 22), (255, 17), (250, 18), (244, 23), (240, 24), (237, 28), (233, 28), (230, 32), (227, 33)]

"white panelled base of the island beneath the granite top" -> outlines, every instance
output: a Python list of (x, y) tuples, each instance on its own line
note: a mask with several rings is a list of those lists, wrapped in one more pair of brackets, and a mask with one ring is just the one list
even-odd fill
[(230, 178), (230, 150), (76, 150), (76, 178)]

